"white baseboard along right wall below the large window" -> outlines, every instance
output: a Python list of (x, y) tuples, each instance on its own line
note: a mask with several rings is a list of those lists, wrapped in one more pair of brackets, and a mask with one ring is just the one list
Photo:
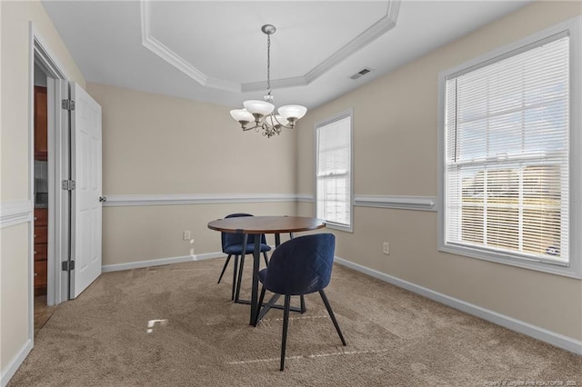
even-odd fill
[(571, 337), (567, 337), (557, 332), (548, 331), (545, 328), (514, 319), (512, 317), (506, 316), (505, 314), (490, 311), (472, 303), (466, 303), (462, 300), (458, 300), (457, 298), (450, 297), (447, 294), (432, 291), (425, 287), (416, 285), (415, 283), (409, 283), (386, 273), (381, 273), (374, 269), (370, 269), (361, 264), (346, 261), (343, 258), (336, 257), (335, 262), (350, 269), (354, 269), (357, 272), (365, 273), (371, 277), (377, 278), (378, 280), (385, 281), (386, 283), (392, 283), (393, 285), (406, 289), (412, 293), (425, 296), (426, 298), (437, 301), (437, 303), (444, 303), (459, 311), (480, 317), (490, 323), (495, 323), (512, 331), (523, 333), (542, 342), (555, 345), (558, 348), (582, 355), (582, 342)]

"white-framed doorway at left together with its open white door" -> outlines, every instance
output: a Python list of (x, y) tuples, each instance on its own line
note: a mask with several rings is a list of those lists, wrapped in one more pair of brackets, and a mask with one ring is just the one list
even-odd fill
[[(46, 210), (35, 213), (30, 227), (28, 310), (33, 338), (35, 293), (46, 294), (47, 306), (58, 305), (82, 293), (101, 274), (101, 217), (105, 199), (101, 178), (101, 106), (81, 86), (68, 81), (45, 50), (33, 25), (30, 26), (29, 105), (33, 141), (29, 189), (30, 197), (35, 198), (35, 212)], [(45, 80), (45, 86), (32, 82), (35, 71), (39, 79)], [(45, 111), (41, 108), (44, 105)], [(39, 124), (36, 131), (35, 124)], [(42, 249), (46, 250), (45, 260), (39, 253)], [(37, 309), (41, 306), (39, 303)]]

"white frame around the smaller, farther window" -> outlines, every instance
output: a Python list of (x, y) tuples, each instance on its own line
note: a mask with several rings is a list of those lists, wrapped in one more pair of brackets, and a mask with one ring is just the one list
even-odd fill
[(348, 109), (344, 112), (336, 114), (332, 117), (326, 118), (325, 120), (319, 121), (314, 125), (314, 198), (315, 198), (315, 206), (314, 212), (315, 216), (317, 216), (317, 170), (318, 170), (318, 151), (319, 151), (319, 144), (318, 144), (318, 137), (317, 137), (317, 129), (321, 126), (326, 126), (327, 124), (332, 124), (336, 121), (349, 117), (350, 120), (350, 138), (349, 138), (349, 152), (350, 152), (350, 171), (349, 171), (349, 219), (350, 222), (348, 225), (342, 223), (334, 223), (327, 221), (326, 219), (326, 227), (331, 228), (334, 230), (345, 231), (348, 233), (354, 232), (354, 112), (353, 109)]

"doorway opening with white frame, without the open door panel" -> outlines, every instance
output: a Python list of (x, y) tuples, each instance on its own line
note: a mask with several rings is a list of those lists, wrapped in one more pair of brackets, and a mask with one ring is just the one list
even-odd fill
[[(68, 97), (65, 74), (47, 54), (31, 25), (29, 190), (33, 198), (31, 226), (31, 336), (43, 325), (54, 305), (68, 300), (68, 278), (61, 257), (68, 256), (68, 194), (57, 182), (68, 176), (68, 116), (61, 100)], [(43, 322), (44, 320), (44, 322)]]

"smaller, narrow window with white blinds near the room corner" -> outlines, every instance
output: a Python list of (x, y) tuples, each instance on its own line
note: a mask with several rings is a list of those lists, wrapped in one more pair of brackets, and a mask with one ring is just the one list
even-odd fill
[(352, 113), (316, 124), (316, 216), (352, 231)]

